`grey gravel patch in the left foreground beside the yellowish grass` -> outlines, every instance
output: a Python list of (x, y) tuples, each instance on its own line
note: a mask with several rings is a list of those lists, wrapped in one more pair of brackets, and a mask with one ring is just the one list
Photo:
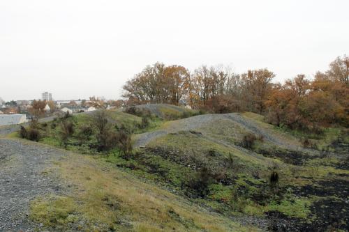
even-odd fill
[[(0, 139), (0, 231), (34, 231), (28, 219), (29, 201), (43, 194), (59, 194), (58, 178), (45, 175), (64, 151), (15, 139)], [(53, 174), (54, 175), (54, 174)]]

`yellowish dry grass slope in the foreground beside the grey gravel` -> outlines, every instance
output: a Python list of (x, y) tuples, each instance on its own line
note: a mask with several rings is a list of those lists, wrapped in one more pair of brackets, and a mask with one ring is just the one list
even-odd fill
[(57, 163), (73, 186), (68, 196), (31, 202), (31, 219), (56, 230), (255, 231), (143, 183), (92, 157), (71, 154)]

